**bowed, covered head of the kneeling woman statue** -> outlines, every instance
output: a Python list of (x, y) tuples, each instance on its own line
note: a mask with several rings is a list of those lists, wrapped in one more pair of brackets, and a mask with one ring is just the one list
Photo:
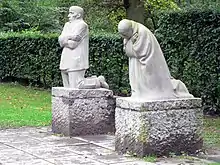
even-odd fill
[(123, 19), (118, 24), (119, 34), (126, 39), (130, 39), (133, 35), (132, 21)]

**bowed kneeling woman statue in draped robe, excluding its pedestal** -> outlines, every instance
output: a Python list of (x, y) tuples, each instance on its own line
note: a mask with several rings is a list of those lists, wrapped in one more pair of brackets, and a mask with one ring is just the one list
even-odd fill
[(129, 57), (131, 98), (162, 100), (191, 98), (185, 84), (171, 77), (156, 37), (144, 25), (124, 19), (118, 24)]

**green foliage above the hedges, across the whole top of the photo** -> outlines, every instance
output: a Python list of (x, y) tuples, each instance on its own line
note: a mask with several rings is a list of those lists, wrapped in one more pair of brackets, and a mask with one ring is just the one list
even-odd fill
[[(131, 1), (131, 0), (130, 0)], [(135, 0), (133, 0), (135, 1)], [(157, 29), (157, 13), (164, 10), (179, 10), (185, 7), (218, 7), (216, 0), (140, 0), (145, 2), (145, 25)], [(103, 2), (107, 2), (104, 4)], [(44, 33), (60, 32), (67, 21), (68, 8), (82, 6), (85, 20), (91, 31), (117, 32), (118, 22), (125, 18), (125, 5), (121, 0), (1, 0), (0, 31), (36, 29)], [(124, 6), (124, 7), (123, 7)], [(133, 12), (130, 12), (133, 15)], [(137, 13), (136, 13), (137, 14)], [(142, 13), (140, 13), (142, 14)]]

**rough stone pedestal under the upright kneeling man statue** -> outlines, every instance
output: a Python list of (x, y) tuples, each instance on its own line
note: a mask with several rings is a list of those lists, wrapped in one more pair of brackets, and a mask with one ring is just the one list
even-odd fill
[(52, 131), (66, 136), (115, 131), (115, 99), (107, 89), (52, 88)]

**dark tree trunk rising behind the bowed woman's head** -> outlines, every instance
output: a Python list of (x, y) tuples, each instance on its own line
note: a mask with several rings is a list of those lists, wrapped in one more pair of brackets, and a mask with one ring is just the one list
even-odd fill
[(145, 8), (141, 0), (124, 0), (124, 7), (128, 19), (144, 24)]

